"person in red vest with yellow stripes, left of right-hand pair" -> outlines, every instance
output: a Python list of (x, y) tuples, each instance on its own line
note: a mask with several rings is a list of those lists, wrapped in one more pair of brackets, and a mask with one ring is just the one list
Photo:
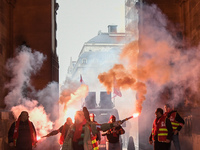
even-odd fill
[(154, 150), (169, 150), (173, 129), (170, 120), (163, 115), (163, 109), (157, 108), (156, 119), (153, 122), (152, 132), (149, 137), (149, 144), (154, 143)]

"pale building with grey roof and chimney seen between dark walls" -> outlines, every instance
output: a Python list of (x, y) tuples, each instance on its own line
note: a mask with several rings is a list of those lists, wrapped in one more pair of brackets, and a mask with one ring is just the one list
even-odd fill
[(116, 63), (115, 58), (124, 44), (125, 33), (117, 32), (117, 25), (108, 25), (108, 32), (99, 31), (97, 36), (84, 43), (77, 61), (70, 60), (68, 75), (76, 81), (81, 75), (90, 92), (95, 93), (95, 100), (100, 102), (100, 93), (106, 90), (98, 81), (98, 75)]

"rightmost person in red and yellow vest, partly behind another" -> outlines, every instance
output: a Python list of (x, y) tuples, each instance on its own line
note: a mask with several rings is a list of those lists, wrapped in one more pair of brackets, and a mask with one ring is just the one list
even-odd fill
[(165, 104), (164, 109), (165, 109), (164, 115), (167, 116), (167, 118), (169, 118), (172, 124), (172, 128), (173, 128), (172, 141), (173, 141), (174, 147), (176, 150), (181, 150), (178, 132), (182, 129), (183, 125), (185, 124), (185, 121), (179, 115), (177, 111), (172, 110), (169, 104)]

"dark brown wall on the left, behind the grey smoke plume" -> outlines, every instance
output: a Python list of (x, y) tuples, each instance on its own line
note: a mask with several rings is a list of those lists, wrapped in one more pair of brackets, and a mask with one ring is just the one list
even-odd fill
[(47, 59), (41, 70), (31, 76), (36, 90), (49, 82), (58, 82), (59, 64), (56, 52), (56, 0), (0, 0), (0, 149), (8, 149), (7, 131), (13, 122), (7, 111), (4, 97), (8, 91), (5, 83), (10, 81), (5, 64), (15, 56), (15, 49), (25, 44), (43, 53)]

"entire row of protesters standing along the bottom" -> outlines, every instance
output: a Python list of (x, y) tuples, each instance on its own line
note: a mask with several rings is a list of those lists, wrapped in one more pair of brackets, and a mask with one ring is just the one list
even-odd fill
[[(154, 145), (154, 150), (170, 150), (173, 142), (176, 150), (180, 150), (178, 132), (184, 125), (184, 120), (169, 104), (155, 111), (156, 118), (153, 121), (149, 143)], [(89, 114), (86, 107), (77, 111), (72, 119), (68, 117), (64, 125), (53, 130), (44, 137), (50, 137), (61, 133), (59, 144), (62, 150), (98, 150), (102, 136), (106, 136), (106, 150), (121, 150), (120, 135), (125, 133), (121, 121), (116, 121), (114, 115), (110, 116), (108, 123), (99, 124), (95, 121), (95, 115)], [(33, 123), (29, 120), (27, 111), (22, 111), (8, 131), (8, 142), (11, 149), (32, 150), (36, 147), (37, 138)]]

